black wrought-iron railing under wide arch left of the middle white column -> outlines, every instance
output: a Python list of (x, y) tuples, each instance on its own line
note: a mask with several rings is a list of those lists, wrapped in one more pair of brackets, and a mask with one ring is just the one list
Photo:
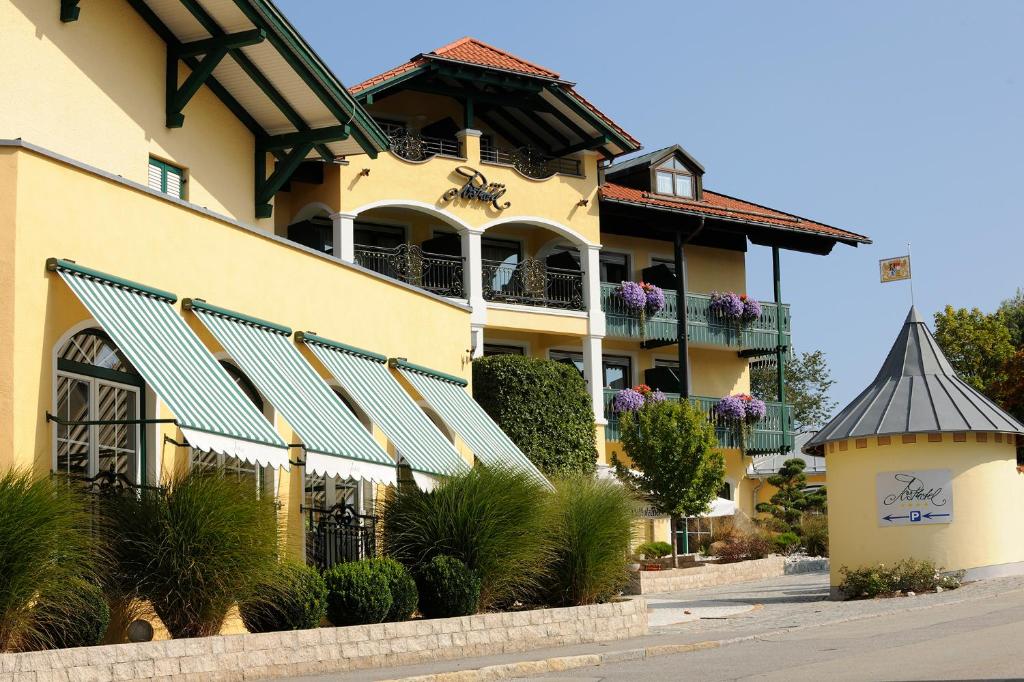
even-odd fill
[(393, 249), (356, 244), (355, 262), (438, 296), (464, 297), (462, 256), (429, 253), (415, 244), (399, 244)]

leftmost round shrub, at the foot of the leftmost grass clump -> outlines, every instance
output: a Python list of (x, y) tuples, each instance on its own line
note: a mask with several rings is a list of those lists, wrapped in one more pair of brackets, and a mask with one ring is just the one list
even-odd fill
[(45, 597), (36, 604), (41, 639), (55, 649), (95, 646), (103, 640), (111, 624), (111, 608), (103, 591), (82, 579), (71, 580), (69, 587), (74, 591), (73, 609), (55, 608)]

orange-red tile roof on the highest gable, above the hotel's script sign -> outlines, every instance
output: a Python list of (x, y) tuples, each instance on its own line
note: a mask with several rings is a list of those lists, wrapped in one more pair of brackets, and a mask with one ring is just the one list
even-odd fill
[[(432, 52), (426, 52), (424, 54), (417, 54), (415, 57), (410, 59), (403, 65), (395, 67), (394, 69), (389, 69), (383, 74), (374, 76), (373, 78), (367, 79), (361, 83), (357, 83), (352, 87), (348, 88), (349, 92), (352, 94), (358, 94), (362, 90), (370, 89), (376, 85), (389, 81), (396, 76), (401, 76), (407, 74), (430, 59), (430, 57), (440, 57), (442, 59), (450, 59), (452, 61), (460, 61), (463, 63), (473, 65), (475, 67), (485, 67), (487, 69), (500, 69), (502, 71), (507, 71), (515, 74), (523, 74), (525, 76), (536, 76), (540, 78), (547, 78), (551, 80), (559, 80), (559, 75), (550, 69), (545, 69), (532, 61), (527, 61), (521, 57), (517, 57), (514, 54), (510, 54), (505, 50), (500, 50), (493, 45), (488, 45), (483, 41), (477, 40), (476, 38), (460, 38), (454, 43), (449, 43), (443, 47), (438, 47)], [(640, 142), (626, 132), (618, 124), (605, 116), (600, 110), (592, 104), (586, 97), (584, 97), (580, 92), (578, 92), (571, 84), (562, 83), (561, 87), (564, 88), (566, 92), (573, 95), (579, 99), (587, 109), (589, 109), (595, 116), (600, 118), (606, 124), (611, 126), (616, 133), (623, 136), (624, 139), (630, 142), (634, 147), (640, 148)]]

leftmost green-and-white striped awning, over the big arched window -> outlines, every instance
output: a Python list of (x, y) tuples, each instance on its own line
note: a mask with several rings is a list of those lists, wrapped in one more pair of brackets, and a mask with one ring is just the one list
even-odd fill
[(167, 403), (193, 447), (288, 468), (285, 441), (188, 329), (174, 294), (56, 258), (46, 267)]

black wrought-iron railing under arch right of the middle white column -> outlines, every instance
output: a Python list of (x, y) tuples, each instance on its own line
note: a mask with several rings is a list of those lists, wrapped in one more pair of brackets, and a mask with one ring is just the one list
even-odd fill
[(543, 260), (482, 261), (483, 298), (545, 308), (583, 310), (583, 272), (548, 267)]

